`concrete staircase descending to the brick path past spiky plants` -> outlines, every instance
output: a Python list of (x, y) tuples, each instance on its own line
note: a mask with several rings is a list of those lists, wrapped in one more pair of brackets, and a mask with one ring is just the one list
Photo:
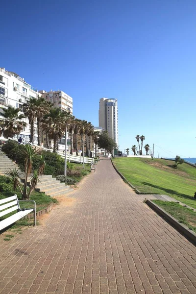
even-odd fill
[[(12, 170), (14, 168), (18, 168), (17, 165), (0, 151), (0, 174), (5, 174), (7, 170)], [(56, 178), (53, 178), (51, 175), (42, 175), (39, 177), (39, 179), (40, 182), (37, 183), (35, 191), (44, 192), (46, 195), (51, 197), (63, 196), (73, 191), (70, 186), (57, 181)], [(30, 185), (30, 177), (28, 184)]]

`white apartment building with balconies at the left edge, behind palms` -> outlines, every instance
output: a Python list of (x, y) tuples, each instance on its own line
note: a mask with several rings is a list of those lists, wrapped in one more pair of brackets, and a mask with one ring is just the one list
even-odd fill
[[(29, 101), (30, 98), (38, 98), (41, 96), (37, 89), (25, 82), (25, 79), (20, 77), (17, 73), (6, 71), (0, 68), (0, 113), (2, 109), (8, 105), (20, 108), (23, 113), (23, 104)], [(28, 119), (24, 119), (27, 123), (25, 129), (20, 135), (24, 142), (29, 142), (30, 126)], [(4, 138), (1, 137), (0, 140)], [(35, 144), (37, 143), (37, 124), (35, 124)]]

